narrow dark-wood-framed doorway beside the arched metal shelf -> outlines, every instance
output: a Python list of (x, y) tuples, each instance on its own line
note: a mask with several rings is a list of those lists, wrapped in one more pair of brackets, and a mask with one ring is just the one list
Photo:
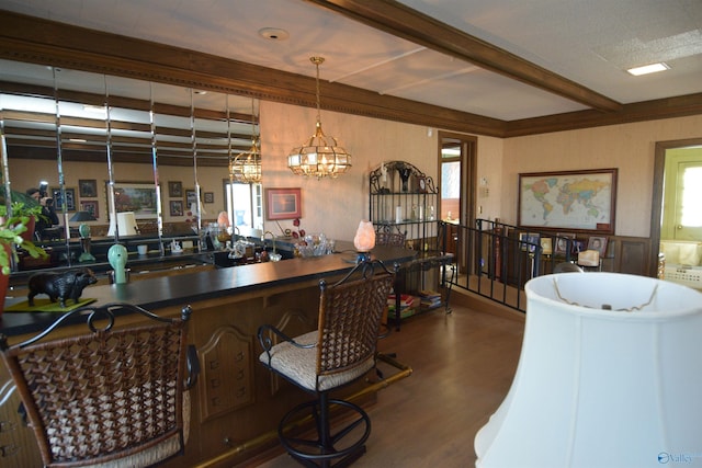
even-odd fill
[(455, 255), (460, 277), (466, 273), (468, 230), (475, 226), (477, 138), (439, 133), (440, 219), (446, 221), (445, 251)]

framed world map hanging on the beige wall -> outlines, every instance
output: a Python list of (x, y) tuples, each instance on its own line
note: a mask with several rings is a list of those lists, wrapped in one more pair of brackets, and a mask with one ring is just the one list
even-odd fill
[(519, 174), (517, 224), (614, 233), (616, 169)]

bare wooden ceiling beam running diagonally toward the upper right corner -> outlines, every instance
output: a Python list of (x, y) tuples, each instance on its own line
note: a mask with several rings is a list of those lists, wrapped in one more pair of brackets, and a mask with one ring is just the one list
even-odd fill
[(604, 112), (622, 104), (394, 0), (305, 0), (486, 70)]

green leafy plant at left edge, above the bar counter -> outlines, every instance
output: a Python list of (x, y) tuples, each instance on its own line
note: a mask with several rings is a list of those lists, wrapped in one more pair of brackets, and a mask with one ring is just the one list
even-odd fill
[[(18, 206), (15, 210), (15, 205), (22, 206)], [(38, 206), (38, 216), (41, 216), (41, 206)], [(16, 252), (12, 251), (13, 243), (18, 248), (25, 250), (34, 259), (46, 256), (44, 249), (36, 247), (34, 242), (25, 240), (21, 236), (26, 231), (26, 225), (30, 222), (30, 216), (32, 215), (35, 215), (35, 209), (25, 207), (21, 202), (12, 205), (11, 216), (8, 216), (7, 206), (0, 205), (0, 271), (3, 275), (9, 275), (11, 272), (10, 255), (14, 255), (15, 261), (18, 260)]]

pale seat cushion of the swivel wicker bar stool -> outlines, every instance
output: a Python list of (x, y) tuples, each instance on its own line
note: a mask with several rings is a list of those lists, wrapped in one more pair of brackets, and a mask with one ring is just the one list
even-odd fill
[[(312, 344), (317, 342), (318, 336), (318, 331), (310, 331), (294, 340), (298, 344)], [(326, 391), (349, 384), (362, 377), (375, 365), (375, 358), (371, 356), (348, 370), (319, 376), (319, 385), (317, 385), (317, 346), (297, 347), (284, 341), (271, 349), (270, 364), (265, 352), (261, 353), (259, 361), (310, 391)]]

